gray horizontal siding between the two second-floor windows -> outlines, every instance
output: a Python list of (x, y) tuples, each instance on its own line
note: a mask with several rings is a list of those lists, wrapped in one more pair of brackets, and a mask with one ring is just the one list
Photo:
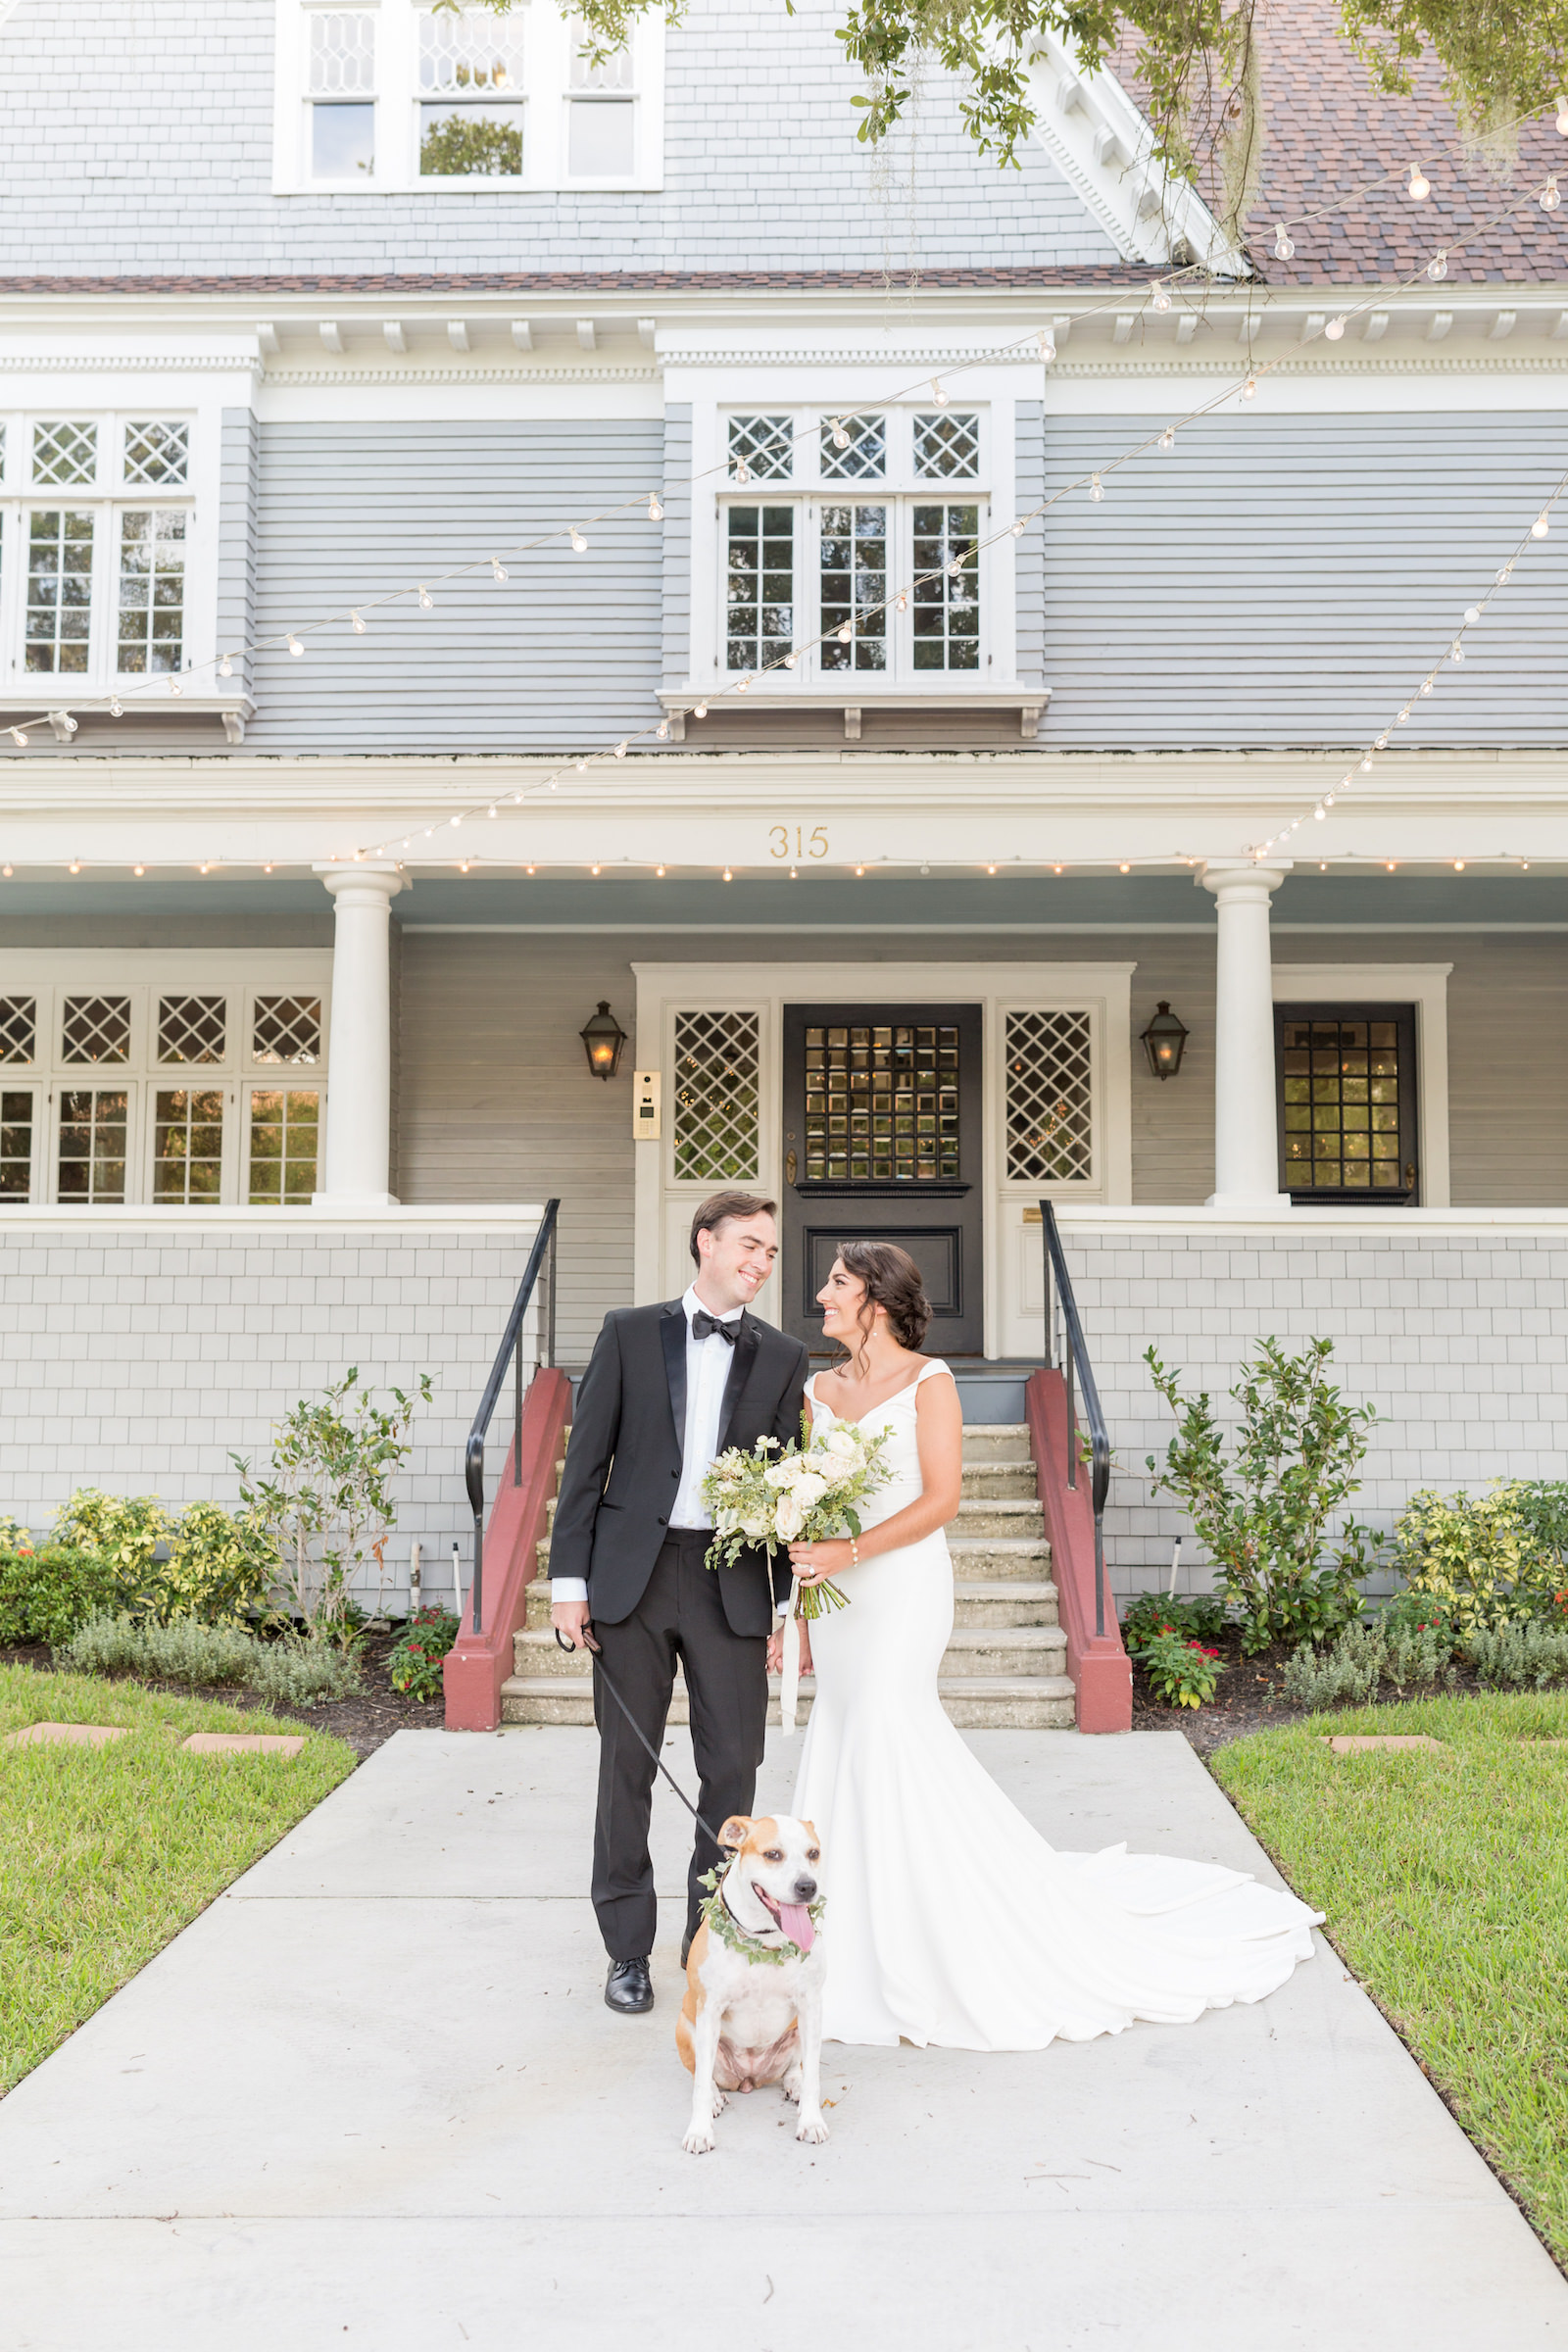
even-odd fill
[(644, 501), (663, 477), (658, 421), (273, 423), (261, 430), (256, 628), (303, 630), (256, 656), (259, 750), (559, 750), (658, 717), (661, 524), (646, 506), (465, 581), (440, 574), (536, 532)]

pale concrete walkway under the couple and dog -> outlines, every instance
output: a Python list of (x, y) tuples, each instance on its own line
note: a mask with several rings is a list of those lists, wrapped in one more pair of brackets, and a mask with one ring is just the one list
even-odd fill
[[(971, 1743), (1056, 1844), (1272, 1877), (1175, 1731)], [(830, 2046), (825, 2147), (759, 2093), (686, 2157), (675, 1900), (654, 2016), (599, 2002), (592, 1752), (400, 1733), (0, 2105), (5, 2352), (1568, 2347), (1568, 2284), (1326, 1945), (1192, 2027)]]

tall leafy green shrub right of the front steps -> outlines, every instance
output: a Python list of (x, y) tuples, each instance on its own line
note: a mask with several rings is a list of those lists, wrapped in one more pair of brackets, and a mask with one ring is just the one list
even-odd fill
[(1239, 1425), (1227, 1454), (1208, 1392), (1180, 1395), (1180, 1374), (1145, 1350), (1150, 1378), (1175, 1414), (1164, 1468), (1150, 1454), (1152, 1491), (1180, 1503), (1215, 1566), (1215, 1585), (1241, 1621), (1241, 1646), (1312, 1642), (1338, 1632), (1361, 1609), (1361, 1578), (1380, 1541), (1347, 1519), (1328, 1522), (1356, 1494), (1371, 1404), (1345, 1404), (1328, 1385), (1333, 1341), (1302, 1355), (1258, 1343), (1229, 1390)]

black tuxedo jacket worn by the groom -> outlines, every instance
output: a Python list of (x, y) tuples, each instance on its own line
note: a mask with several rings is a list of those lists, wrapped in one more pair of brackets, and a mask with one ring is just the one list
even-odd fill
[[(719, 1454), (759, 1437), (799, 1437), (806, 1350), (755, 1315), (741, 1317), (724, 1402)], [(614, 1308), (595, 1341), (571, 1414), (567, 1470), (550, 1531), (550, 1573), (585, 1576), (588, 1606), (618, 1625), (646, 1592), (682, 1477), (686, 1435), (686, 1310)], [(773, 1592), (790, 1590), (790, 1559), (743, 1552), (715, 1571), (731, 1632), (769, 1632)]]

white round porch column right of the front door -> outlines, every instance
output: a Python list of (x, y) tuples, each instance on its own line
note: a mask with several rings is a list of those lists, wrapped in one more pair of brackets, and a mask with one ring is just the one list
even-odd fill
[(1211, 1209), (1288, 1209), (1279, 1190), (1279, 1112), (1274, 1105), (1274, 974), (1269, 896), (1291, 861), (1206, 866), (1215, 896), (1215, 1068)]

